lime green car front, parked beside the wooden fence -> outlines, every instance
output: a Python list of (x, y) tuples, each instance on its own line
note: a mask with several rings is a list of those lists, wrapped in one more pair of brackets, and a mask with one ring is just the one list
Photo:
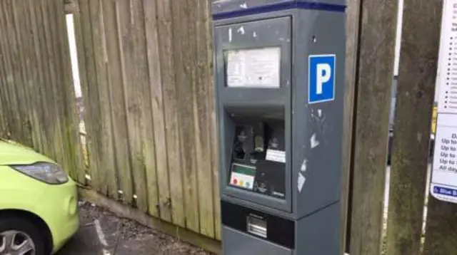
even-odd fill
[(77, 203), (59, 165), (0, 140), (0, 254), (54, 254), (79, 228)]

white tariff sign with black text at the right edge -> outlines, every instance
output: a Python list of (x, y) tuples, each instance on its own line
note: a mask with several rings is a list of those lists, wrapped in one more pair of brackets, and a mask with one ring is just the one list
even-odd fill
[(457, 0), (444, 1), (436, 93), (430, 192), (436, 199), (457, 203)]

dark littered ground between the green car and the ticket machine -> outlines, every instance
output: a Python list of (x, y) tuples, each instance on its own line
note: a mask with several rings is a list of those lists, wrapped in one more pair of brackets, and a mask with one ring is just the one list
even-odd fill
[(81, 202), (80, 217), (79, 232), (58, 255), (210, 255), (174, 237), (120, 219), (94, 204)]

